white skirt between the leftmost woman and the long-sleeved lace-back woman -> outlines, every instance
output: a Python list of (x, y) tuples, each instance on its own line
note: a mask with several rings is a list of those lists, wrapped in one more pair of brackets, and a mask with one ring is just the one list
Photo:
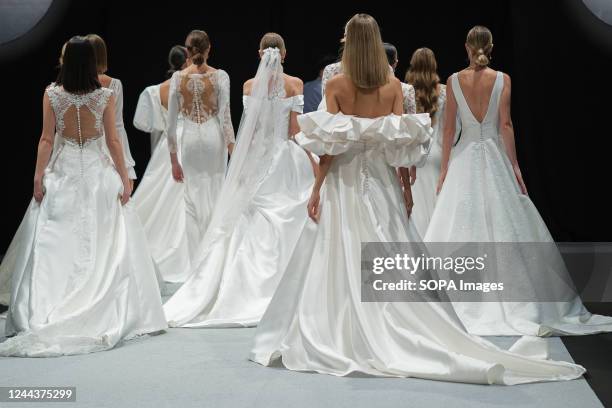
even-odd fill
[[(181, 130), (178, 145), (181, 145)], [(185, 186), (172, 178), (165, 133), (153, 150), (132, 205), (162, 279), (183, 282), (191, 269), (186, 233)]]

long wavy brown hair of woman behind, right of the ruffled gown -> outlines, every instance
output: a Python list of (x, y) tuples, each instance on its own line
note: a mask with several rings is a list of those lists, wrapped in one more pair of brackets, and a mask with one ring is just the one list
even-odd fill
[(438, 64), (432, 50), (423, 47), (412, 54), (406, 82), (414, 86), (418, 113), (429, 113), (433, 119), (438, 111)]

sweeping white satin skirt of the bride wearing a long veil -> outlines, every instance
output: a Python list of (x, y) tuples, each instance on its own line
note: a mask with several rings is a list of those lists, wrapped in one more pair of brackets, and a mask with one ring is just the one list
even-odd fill
[(256, 325), (287, 263), (300, 252), (314, 175), (306, 152), (281, 142), (267, 176), (233, 230), (206, 249), (165, 304), (170, 326)]

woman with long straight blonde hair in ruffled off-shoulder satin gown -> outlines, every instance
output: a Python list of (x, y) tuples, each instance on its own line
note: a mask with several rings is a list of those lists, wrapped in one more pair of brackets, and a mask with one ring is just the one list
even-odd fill
[(344, 74), (327, 83), (328, 112), (298, 118), (296, 139), (321, 155), (308, 203), (318, 225), (304, 230), (250, 358), (340, 376), (484, 384), (580, 377), (578, 365), (520, 356), (469, 335), (447, 303), (361, 301), (361, 243), (418, 239), (393, 167), (421, 160), (431, 129), (427, 114), (402, 114), (400, 81), (390, 75), (371, 16), (348, 22), (342, 65)]

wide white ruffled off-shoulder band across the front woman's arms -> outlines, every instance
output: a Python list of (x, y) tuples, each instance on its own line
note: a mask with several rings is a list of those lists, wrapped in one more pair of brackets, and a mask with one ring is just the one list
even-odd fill
[(315, 111), (298, 116), (296, 141), (321, 155), (339, 155), (353, 147), (378, 149), (393, 167), (422, 166), (431, 145), (428, 114), (387, 115), (368, 119)]

